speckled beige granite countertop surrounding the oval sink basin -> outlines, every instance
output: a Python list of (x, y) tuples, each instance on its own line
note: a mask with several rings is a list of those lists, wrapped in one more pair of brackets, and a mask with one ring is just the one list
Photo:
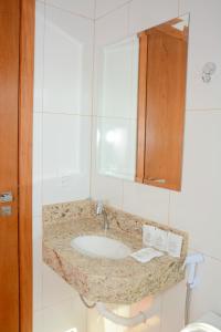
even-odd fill
[[(181, 269), (187, 251), (185, 232), (182, 232), (183, 248), (180, 259), (164, 256), (155, 258), (150, 262), (140, 263), (131, 257), (119, 260), (92, 258), (73, 249), (71, 240), (80, 235), (101, 235), (120, 240), (136, 251), (143, 247), (141, 228), (139, 227), (140, 229), (136, 231), (140, 218), (137, 217), (134, 222), (131, 215), (123, 212), (124, 217), (118, 216), (119, 221), (115, 222), (114, 218), (117, 218), (117, 214), (110, 209), (110, 229), (105, 232), (102, 230), (101, 218), (90, 216), (90, 209), (86, 215), (73, 215), (66, 206), (65, 215), (61, 214), (61, 209), (64, 209), (64, 205), (57, 209), (50, 206), (44, 210), (46, 221), (43, 237), (43, 259), (87, 300), (129, 304), (146, 295), (157, 294), (185, 278)], [(54, 214), (56, 222), (53, 222), (55, 210), (59, 212)], [(126, 228), (124, 227), (127, 217), (130, 218), (133, 227), (136, 224), (135, 231), (128, 225)], [(134, 216), (134, 218), (136, 217)]]

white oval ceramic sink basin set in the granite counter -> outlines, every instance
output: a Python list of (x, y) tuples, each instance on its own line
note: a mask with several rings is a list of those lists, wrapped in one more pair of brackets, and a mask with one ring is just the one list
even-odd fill
[(103, 236), (81, 236), (74, 238), (71, 246), (90, 257), (123, 259), (131, 253), (123, 242)]

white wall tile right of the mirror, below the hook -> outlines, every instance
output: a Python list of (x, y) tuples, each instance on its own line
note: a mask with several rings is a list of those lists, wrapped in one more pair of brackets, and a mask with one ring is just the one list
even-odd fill
[(221, 259), (221, 112), (187, 112), (181, 193), (171, 191), (170, 222), (190, 247)]

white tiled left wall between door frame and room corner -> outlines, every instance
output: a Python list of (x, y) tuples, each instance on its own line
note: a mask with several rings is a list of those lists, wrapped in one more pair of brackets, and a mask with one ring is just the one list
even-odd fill
[(42, 263), (41, 215), (42, 204), (90, 195), (94, 1), (46, 3), (36, 1), (35, 22), (33, 323), (34, 332), (85, 332), (78, 295)]

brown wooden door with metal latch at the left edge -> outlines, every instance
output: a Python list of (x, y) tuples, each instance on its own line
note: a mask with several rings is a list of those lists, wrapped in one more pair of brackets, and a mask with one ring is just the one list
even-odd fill
[[(0, 1), (0, 331), (19, 331), (18, 128), (19, 128), (18, 0)], [(10, 200), (10, 198), (9, 198)], [(11, 212), (10, 212), (11, 209)]]

